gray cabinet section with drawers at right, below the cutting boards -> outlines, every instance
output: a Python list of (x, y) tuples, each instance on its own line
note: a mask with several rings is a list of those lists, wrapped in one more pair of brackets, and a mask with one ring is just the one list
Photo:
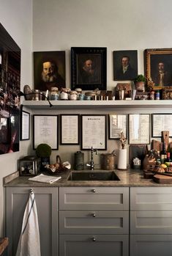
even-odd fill
[(172, 255), (172, 188), (130, 189), (130, 255)]

